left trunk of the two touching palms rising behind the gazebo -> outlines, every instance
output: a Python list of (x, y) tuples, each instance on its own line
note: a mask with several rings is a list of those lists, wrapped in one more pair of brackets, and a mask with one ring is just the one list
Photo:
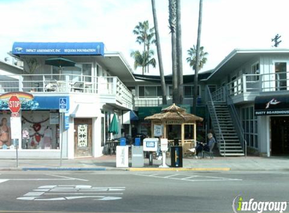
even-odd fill
[(172, 102), (179, 103), (178, 98), (178, 73), (177, 73), (177, 44), (176, 44), (176, 19), (177, 19), (177, 2), (168, 0), (169, 10), (169, 29), (171, 33), (171, 65), (172, 65)]

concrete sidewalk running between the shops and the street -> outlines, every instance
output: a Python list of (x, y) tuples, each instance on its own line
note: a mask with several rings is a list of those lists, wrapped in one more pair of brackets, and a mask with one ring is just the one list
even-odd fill
[[(76, 159), (63, 159), (60, 167), (60, 159), (19, 159), (17, 168), (16, 159), (1, 159), (0, 170), (26, 171), (26, 170), (79, 170), (79, 171), (149, 171), (149, 170), (176, 170), (176, 171), (228, 171), (228, 170), (248, 170), (248, 171), (289, 171), (288, 157), (214, 157), (213, 159), (195, 159), (193, 157), (183, 158), (183, 168), (158, 168), (161, 161), (153, 159), (153, 166), (148, 166), (148, 159), (145, 158), (143, 168), (131, 168), (131, 158), (129, 159), (130, 168), (116, 168), (115, 155), (103, 155), (101, 157), (86, 157)], [(167, 159), (170, 165), (170, 158)]]

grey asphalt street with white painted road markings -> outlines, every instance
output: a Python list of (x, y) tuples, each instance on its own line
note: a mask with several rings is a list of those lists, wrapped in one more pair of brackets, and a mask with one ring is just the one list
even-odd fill
[(0, 212), (233, 212), (238, 195), (289, 201), (288, 174), (2, 171)]

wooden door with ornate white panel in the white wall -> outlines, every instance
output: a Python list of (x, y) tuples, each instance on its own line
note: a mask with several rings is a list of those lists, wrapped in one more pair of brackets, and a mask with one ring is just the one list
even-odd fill
[(92, 119), (74, 119), (74, 156), (92, 156)]

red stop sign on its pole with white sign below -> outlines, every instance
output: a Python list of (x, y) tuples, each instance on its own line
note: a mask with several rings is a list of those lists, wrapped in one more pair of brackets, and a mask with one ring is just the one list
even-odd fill
[[(18, 163), (18, 137), (17, 131), (20, 131), (20, 135), (21, 135), (21, 120), (19, 120), (19, 111), (21, 109), (21, 102), (20, 99), (16, 96), (16, 95), (12, 95), (9, 98), (9, 102), (8, 102), (8, 106), (9, 109), (12, 113), (11, 115), (11, 130), (13, 131), (13, 134), (11, 134), (12, 139), (13, 139), (13, 144), (16, 144), (16, 161), (17, 161), (17, 167), (19, 167), (19, 163)], [(14, 126), (12, 126), (14, 125)], [(20, 128), (20, 129), (19, 129)], [(12, 133), (12, 132), (11, 132)], [(15, 134), (16, 133), (16, 134)], [(15, 136), (16, 135), (16, 136)]]

